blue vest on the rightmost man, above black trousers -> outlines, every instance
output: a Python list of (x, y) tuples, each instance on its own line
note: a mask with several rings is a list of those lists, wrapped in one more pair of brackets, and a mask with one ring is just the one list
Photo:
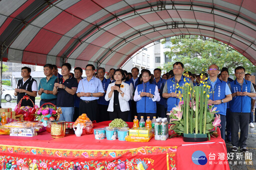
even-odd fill
[[(231, 93), (248, 92), (250, 93), (250, 81), (243, 79), (242, 86), (237, 80), (230, 82)], [(250, 113), (250, 97), (249, 96), (234, 96), (230, 103), (231, 112)]]

